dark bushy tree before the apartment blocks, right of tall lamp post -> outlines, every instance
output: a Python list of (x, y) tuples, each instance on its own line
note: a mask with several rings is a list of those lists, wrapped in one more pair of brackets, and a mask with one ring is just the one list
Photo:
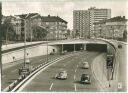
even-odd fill
[(48, 31), (40, 26), (33, 27), (33, 35), (35, 40), (43, 40), (47, 36)]

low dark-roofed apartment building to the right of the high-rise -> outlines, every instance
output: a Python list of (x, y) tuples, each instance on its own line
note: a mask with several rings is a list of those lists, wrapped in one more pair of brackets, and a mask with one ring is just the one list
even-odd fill
[(94, 31), (96, 38), (121, 40), (127, 32), (127, 20), (121, 16), (102, 20), (94, 23)]

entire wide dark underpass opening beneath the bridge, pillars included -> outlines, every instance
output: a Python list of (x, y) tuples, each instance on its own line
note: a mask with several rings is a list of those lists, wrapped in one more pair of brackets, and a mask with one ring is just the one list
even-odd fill
[(59, 47), (59, 52), (67, 51), (97, 51), (97, 52), (107, 52), (107, 44), (97, 44), (97, 43), (88, 43), (88, 44), (60, 44), (57, 45)]

